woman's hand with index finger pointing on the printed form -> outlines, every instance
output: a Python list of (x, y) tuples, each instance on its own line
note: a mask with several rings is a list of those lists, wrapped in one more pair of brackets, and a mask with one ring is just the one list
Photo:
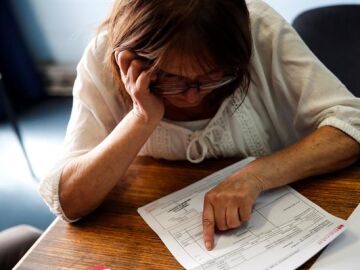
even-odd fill
[(252, 206), (263, 188), (262, 180), (244, 168), (205, 194), (203, 234), (208, 250), (214, 246), (215, 226), (224, 231), (250, 219)]

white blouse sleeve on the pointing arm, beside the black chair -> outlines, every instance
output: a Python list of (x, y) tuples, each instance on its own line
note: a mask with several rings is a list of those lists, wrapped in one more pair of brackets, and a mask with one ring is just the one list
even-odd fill
[(271, 85), (269, 106), (281, 112), (301, 136), (327, 125), (360, 142), (360, 99), (271, 7), (263, 1), (249, 2), (250, 9), (256, 10), (252, 18), (256, 65), (261, 67), (260, 80)]

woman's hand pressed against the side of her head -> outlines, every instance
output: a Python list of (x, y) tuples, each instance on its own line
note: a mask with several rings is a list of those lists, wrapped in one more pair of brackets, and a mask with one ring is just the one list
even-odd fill
[(116, 51), (115, 59), (121, 80), (133, 100), (133, 112), (147, 123), (159, 122), (164, 116), (164, 103), (150, 92), (149, 85), (156, 75), (151, 74), (139, 56), (130, 51)]

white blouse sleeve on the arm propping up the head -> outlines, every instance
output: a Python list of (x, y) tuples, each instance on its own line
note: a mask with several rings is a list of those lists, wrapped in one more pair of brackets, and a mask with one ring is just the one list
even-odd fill
[[(104, 37), (100, 37), (103, 38)], [(59, 181), (64, 167), (102, 142), (125, 113), (114, 83), (103, 64), (104, 47), (94, 39), (77, 66), (73, 107), (62, 152), (42, 179), (39, 192), (51, 211), (68, 222), (59, 201)]]

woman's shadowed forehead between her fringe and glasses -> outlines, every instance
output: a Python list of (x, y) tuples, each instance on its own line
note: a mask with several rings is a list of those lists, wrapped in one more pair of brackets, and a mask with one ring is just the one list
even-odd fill
[(216, 69), (214, 61), (210, 57), (207, 59), (198, 59), (195, 56), (181, 54), (171, 50), (166, 54), (164, 60), (158, 67), (161, 71), (195, 79)]

